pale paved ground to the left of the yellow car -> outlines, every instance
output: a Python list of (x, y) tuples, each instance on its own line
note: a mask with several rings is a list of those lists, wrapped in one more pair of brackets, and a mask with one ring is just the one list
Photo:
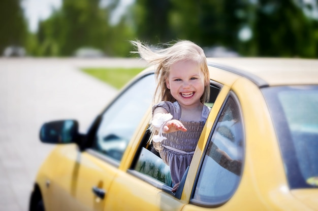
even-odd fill
[(146, 67), (136, 59), (0, 58), (0, 211), (26, 211), (37, 170), (53, 145), (43, 122), (73, 118), (85, 132), (117, 93), (80, 67)]

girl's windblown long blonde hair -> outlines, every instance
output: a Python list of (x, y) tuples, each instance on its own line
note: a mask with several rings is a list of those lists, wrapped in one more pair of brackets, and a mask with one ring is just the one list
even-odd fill
[(151, 48), (142, 44), (140, 41), (131, 41), (137, 47), (139, 55), (149, 62), (156, 65), (154, 71), (156, 82), (158, 83), (153, 103), (160, 101), (175, 102), (176, 99), (172, 97), (170, 90), (166, 86), (166, 78), (169, 76), (171, 65), (180, 61), (194, 61), (200, 66), (200, 70), (204, 75), (204, 92), (200, 98), (202, 104), (208, 102), (210, 97), (210, 83), (209, 70), (203, 49), (192, 41), (179, 40), (174, 45), (168, 45), (168, 48)]

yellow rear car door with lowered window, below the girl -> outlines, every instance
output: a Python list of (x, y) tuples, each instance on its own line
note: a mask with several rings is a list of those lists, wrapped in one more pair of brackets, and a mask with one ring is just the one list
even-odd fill
[[(213, 103), (219, 93), (219, 87), (211, 86), (211, 101)], [(147, 119), (150, 119), (148, 113)], [(156, 154), (149, 143), (148, 121), (143, 121), (135, 140), (135, 146), (130, 151), (124, 171), (118, 174), (110, 188), (105, 210), (182, 210), (189, 202), (188, 192), (182, 195), (183, 188), (173, 194), (170, 168)], [(184, 179), (186, 174), (184, 175)], [(182, 196), (181, 196), (182, 195)]]

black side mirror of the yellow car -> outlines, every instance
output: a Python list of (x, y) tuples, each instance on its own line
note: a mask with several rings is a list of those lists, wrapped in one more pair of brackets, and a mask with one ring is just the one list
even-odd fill
[(50, 144), (74, 143), (78, 136), (78, 122), (76, 120), (50, 121), (42, 125), (40, 140)]

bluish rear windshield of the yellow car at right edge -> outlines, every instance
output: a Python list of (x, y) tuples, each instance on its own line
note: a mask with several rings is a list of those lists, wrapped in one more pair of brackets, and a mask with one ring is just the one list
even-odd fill
[(266, 98), (291, 188), (318, 187), (318, 86), (269, 87)]

